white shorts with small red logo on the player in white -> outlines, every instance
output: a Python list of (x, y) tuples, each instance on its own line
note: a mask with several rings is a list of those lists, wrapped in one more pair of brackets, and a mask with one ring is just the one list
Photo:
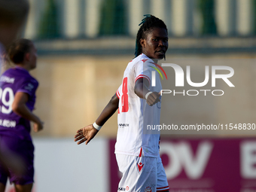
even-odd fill
[(123, 174), (117, 191), (156, 192), (169, 190), (166, 172), (159, 157), (136, 157), (116, 154)]

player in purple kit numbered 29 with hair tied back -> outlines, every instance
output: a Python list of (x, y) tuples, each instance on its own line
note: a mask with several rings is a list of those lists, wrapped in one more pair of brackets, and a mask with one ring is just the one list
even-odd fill
[(8, 178), (14, 183), (17, 192), (32, 190), (34, 146), (29, 121), (34, 123), (35, 132), (43, 129), (39, 117), (32, 113), (38, 81), (29, 75), (29, 71), (36, 67), (36, 52), (32, 41), (14, 41), (8, 56), (16, 66), (0, 77), (0, 153), (10, 160), (18, 158), (24, 165), (22, 174), (19, 174), (8, 164), (0, 163), (0, 192), (5, 191)]

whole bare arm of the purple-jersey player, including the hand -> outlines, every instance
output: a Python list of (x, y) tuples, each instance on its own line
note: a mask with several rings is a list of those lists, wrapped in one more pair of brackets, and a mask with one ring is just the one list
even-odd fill
[(26, 102), (29, 100), (29, 94), (23, 92), (17, 92), (14, 96), (14, 102), (11, 105), (12, 110), (14, 113), (20, 115), (21, 117), (32, 120), (34, 123), (34, 131), (38, 132), (43, 129), (43, 123), (29, 108), (26, 106)]

